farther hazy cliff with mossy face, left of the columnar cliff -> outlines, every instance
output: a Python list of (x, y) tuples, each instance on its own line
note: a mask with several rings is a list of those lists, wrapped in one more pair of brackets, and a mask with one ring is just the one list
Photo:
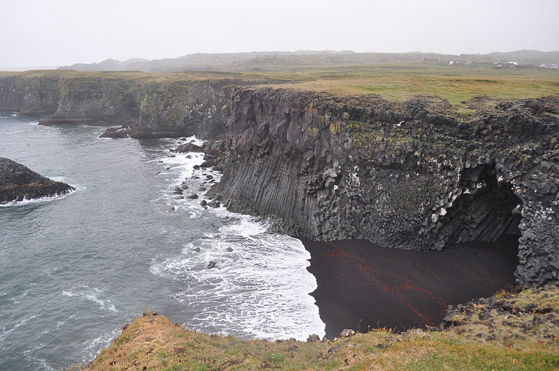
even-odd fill
[[(122, 125), (133, 138), (219, 136), (222, 107), (233, 88), (262, 82), (195, 73), (37, 74), (0, 76), (0, 110), (50, 115), (39, 120), (43, 125)], [(124, 132), (104, 136), (122, 138)]]

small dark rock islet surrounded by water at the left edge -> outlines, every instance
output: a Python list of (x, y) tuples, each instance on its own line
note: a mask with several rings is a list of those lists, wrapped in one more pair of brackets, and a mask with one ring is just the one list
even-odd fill
[(74, 188), (54, 182), (29, 168), (0, 157), (0, 203), (65, 194)]

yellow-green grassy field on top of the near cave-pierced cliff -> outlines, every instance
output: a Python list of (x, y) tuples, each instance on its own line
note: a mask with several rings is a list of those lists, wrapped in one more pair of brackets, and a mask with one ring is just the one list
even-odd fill
[(290, 85), (296, 89), (333, 94), (375, 93), (391, 101), (404, 101), (415, 94), (437, 95), (455, 106), (481, 95), (496, 99), (524, 99), (559, 94), (559, 72), (537, 68), (499, 70), (488, 66), (392, 64), (247, 75), (302, 81)]

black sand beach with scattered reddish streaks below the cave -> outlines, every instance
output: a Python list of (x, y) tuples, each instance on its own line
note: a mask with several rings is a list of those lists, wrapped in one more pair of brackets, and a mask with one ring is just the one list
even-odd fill
[(318, 282), (312, 296), (329, 338), (344, 328), (366, 332), (435, 326), (447, 305), (491, 296), (515, 284), (516, 235), (442, 252), (390, 249), (365, 240), (300, 240), (312, 256), (308, 270)]

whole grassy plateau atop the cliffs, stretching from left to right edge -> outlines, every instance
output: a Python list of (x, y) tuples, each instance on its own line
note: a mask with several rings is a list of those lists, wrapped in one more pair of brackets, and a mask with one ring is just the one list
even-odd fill
[[(269, 66), (268, 66), (269, 67)], [(266, 70), (266, 66), (261, 68)], [(475, 96), (495, 99), (525, 99), (559, 94), (559, 71), (539, 68), (500, 70), (493, 66), (448, 66), (443, 64), (374, 64), (284, 67), (280, 71), (184, 73), (27, 71), (1, 72), (28, 78), (98, 77), (170, 82), (246, 78), (255, 82), (336, 95), (374, 93), (391, 101), (404, 101), (416, 94), (442, 96), (457, 108)], [(467, 113), (467, 112), (466, 112)]]

